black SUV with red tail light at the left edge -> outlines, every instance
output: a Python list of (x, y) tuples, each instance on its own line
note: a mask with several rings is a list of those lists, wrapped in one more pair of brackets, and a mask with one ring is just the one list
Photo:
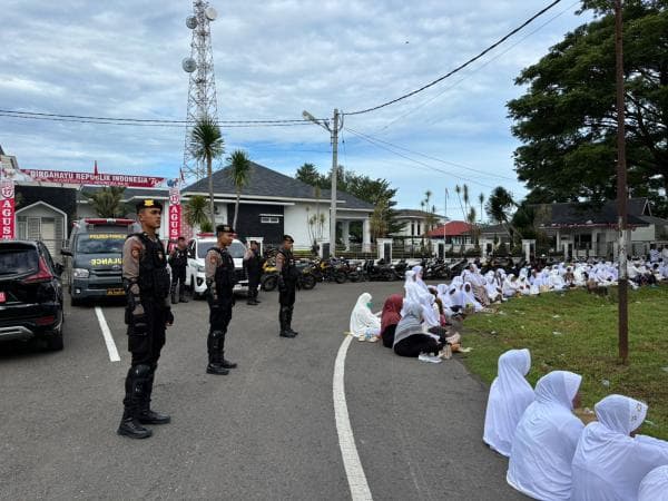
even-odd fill
[(0, 240), (0, 341), (62, 350), (62, 266), (41, 242)]

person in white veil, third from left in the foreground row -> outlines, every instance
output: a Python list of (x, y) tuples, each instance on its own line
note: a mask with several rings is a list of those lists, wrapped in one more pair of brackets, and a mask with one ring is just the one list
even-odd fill
[(587, 425), (573, 456), (573, 501), (635, 500), (640, 482), (668, 464), (668, 442), (630, 436), (647, 405), (628, 396), (608, 395), (595, 405), (598, 422)]

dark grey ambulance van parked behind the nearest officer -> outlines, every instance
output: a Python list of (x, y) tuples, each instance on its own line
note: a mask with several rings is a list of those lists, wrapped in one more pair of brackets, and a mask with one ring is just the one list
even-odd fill
[(75, 223), (68, 246), (68, 288), (72, 306), (84, 299), (124, 296), (122, 246), (132, 219), (86, 218)]

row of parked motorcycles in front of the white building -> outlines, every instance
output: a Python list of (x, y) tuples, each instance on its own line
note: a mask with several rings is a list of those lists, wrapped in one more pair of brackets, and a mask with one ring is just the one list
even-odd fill
[[(442, 258), (424, 258), (409, 265), (406, 259), (400, 259), (395, 263), (386, 263), (384, 259), (364, 259), (350, 261), (345, 258), (314, 258), (297, 263), (299, 269), (299, 279), (297, 288), (305, 291), (312, 289), (318, 282), (331, 282), (343, 284), (351, 282), (391, 282), (404, 279), (404, 274), (409, 266), (421, 264), (423, 277), (426, 279), (449, 279), (459, 275), (468, 259), (461, 259), (454, 263), (445, 263)], [(261, 277), (261, 287), (263, 291), (274, 291), (278, 284), (278, 273), (276, 272), (275, 261), (268, 258), (263, 266)]]

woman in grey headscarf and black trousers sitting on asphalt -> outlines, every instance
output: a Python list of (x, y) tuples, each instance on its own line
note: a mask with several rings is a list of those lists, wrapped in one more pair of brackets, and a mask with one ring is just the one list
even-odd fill
[(422, 328), (422, 304), (404, 301), (405, 314), (396, 324), (394, 332), (394, 353), (410, 356), (423, 362), (440, 363), (439, 352), (443, 345), (438, 336), (425, 334)]

